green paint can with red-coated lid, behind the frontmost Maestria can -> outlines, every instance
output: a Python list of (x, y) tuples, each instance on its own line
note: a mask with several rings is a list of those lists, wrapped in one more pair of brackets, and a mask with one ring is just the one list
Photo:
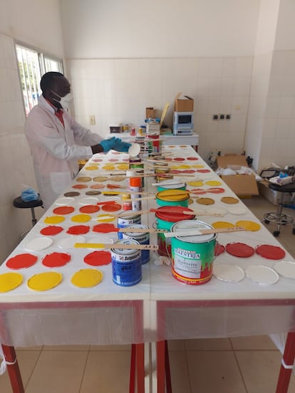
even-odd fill
[[(191, 211), (192, 214), (183, 214), (183, 211)], [(194, 211), (182, 206), (162, 206), (155, 212), (157, 229), (170, 231), (175, 222), (195, 219)], [(171, 239), (165, 238), (164, 234), (157, 234), (158, 253), (162, 256), (171, 256)]]

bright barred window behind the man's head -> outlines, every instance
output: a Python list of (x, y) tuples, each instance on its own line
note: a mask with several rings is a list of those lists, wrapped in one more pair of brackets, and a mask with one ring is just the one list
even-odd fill
[(48, 71), (63, 73), (63, 62), (35, 49), (16, 44), (16, 57), (19, 64), (19, 78), (24, 97), (24, 110), (26, 116), (38, 103), (41, 95), (41, 76)]

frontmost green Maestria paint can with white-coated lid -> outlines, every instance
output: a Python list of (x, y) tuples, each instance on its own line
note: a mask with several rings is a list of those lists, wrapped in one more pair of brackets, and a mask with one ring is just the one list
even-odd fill
[[(179, 221), (171, 231), (212, 229), (202, 221)], [(177, 236), (171, 238), (172, 276), (182, 283), (200, 285), (212, 277), (216, 234)]]

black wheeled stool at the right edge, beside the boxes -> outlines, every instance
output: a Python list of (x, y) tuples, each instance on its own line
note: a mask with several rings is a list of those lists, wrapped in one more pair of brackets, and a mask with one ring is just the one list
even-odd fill
[[(264, 222), (265, 224), (269, 224), (270, 222), (277, 224), (278, 230), (274, 231), (272, 234), (274, 236), (279, 236), (281, 225), (292, 224), (294, 219), (288, 214), (283, 213), (284, 206), (284, 196), (286, 194), (292, 194), (295, 192), (295, 183), (289, 183), (285, 186), (279, 186), (278, 184), (269, 183), (269, 188), (274, 189), (274, 191), (279, 192), (279, 200), (278, 207), (276, 211), (272, 211), (271, 213), (264, 214)], [(292, 231), (295, 234), (295, 229)]]

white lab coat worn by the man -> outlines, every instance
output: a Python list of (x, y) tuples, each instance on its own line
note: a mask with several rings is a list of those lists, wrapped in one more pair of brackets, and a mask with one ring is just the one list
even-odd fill
[(64, 126), (54, 108), (41, 95), (25, 124), (38, 192), (46, 209), (78, 173), (78, 159), (92, 157), (90, 146), (103, 140), (79, 125), (66, 110), (63, 122)]

